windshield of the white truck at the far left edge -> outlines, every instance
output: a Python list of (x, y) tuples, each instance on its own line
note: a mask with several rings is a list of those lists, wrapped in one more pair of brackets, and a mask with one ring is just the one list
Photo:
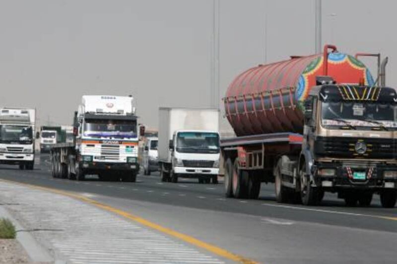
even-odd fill
[(32, 127), (18, 125), (0, 125), (0, 143), (32, 144)]

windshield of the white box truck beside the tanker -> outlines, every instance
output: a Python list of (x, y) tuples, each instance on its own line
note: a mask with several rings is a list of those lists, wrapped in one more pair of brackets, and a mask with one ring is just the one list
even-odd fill
[(176, 150), (180, 153), (219, 153), (219, 135), (210, 132), (179, 132)]

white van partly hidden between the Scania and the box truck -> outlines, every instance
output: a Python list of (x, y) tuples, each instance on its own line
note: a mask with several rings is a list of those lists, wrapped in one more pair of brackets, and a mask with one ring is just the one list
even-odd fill
[(152, 171), (158, 170), (158, 138), (148, 137), (143, 145), (143, 171), (145, 175), (150, 175)]

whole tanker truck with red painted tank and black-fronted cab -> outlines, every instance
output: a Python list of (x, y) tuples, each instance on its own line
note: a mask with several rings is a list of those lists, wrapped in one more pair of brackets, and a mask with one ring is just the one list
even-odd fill
[(236, 134), (221, 140), (226, 197), (256, 199), (274, 182), (279, 203), (318, 205), (331, 192), (347, 206), (379, 194), (395, 207), (397, 93), (385, 87), (386, 62), (374, 81), (357, 57), (326, 45), (238, 75), (223, 99)]

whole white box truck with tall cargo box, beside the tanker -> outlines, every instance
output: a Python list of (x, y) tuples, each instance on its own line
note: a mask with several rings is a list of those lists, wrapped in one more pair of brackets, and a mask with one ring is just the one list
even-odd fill
[(219, 110), (159, 109), (158, 157), (162, 181), (178, 177), (218, 182)]

